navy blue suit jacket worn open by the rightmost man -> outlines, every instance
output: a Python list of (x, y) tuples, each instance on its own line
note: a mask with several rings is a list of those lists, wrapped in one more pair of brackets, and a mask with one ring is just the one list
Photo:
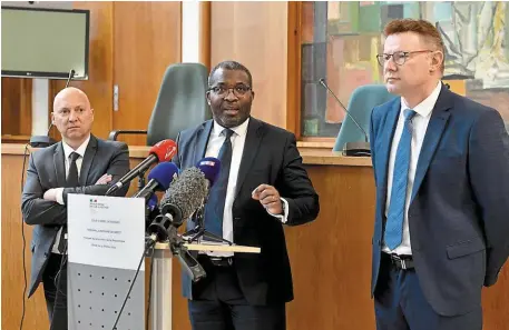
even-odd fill
[[(376, 182), (372, 294), (379, 277), (388, 163), (401, 99), (373, 109)], [(495, 109), (442, 86), (417, 166), (408, 211), (419, 283), (442, 316), (481, 303), (509, 254), (509, 138)]]

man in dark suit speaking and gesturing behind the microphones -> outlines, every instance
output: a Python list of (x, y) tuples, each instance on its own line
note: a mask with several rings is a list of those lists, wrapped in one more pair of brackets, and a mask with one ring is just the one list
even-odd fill
[[(179, 133), (174, 161), (182, 169), (204, 157), (221, 160), (221, 174), (205, 209), (205, 228), (260, 254), (199, 254), (207, 277), (183, 276), (194, 330), (285, 329), (293, 299), (283, 224), (310, 222), (319, 196), (302, 164), (294, 134), (251, 117), (249, 71), (238, 62), (217, 64), (208, 79), (213, 120)], [(194, 228), (192, 221), (188, 229)]]

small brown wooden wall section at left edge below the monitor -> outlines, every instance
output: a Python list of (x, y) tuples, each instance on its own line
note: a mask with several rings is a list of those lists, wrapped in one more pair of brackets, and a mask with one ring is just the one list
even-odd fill
[(2, 78), (2, 139), (32, 131), (32, 80)]

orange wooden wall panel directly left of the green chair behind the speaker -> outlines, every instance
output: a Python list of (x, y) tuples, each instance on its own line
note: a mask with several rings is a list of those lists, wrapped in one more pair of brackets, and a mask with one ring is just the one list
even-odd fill
[[(146, 130), (166, 68), (180, 61), (180, 2), (115, 2), (116, 130)], [(128, 19), (126, 19), (128, 18)], [(145, 146), (146, 136), (123, 138)]]

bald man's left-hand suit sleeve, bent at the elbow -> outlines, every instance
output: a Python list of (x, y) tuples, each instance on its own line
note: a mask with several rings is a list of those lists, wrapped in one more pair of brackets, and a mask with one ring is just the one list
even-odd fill
[(39, 173), (30, 154), (27, 180), (21, 197), (21, 211), (27, 224), (63, 224), (67, 221), (67, 208), (57, 202), (45, 200), (45, 192), (39, 181)]

